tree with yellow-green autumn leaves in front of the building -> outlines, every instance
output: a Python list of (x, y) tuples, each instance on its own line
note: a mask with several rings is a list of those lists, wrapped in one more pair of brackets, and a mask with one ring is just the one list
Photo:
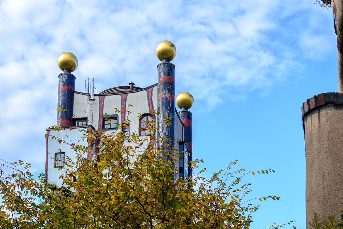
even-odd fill
[[(121, 111), (118, 111), (121, 112)], [(129, 122), (129, 120), (127, 120)], [(149, 122), (149, 121), (148, 121)], [(0, 228), (249, 228), (251, 213), (259, 205), (245, 201), (250, 183), (240, 184), (247, 174), (273, 170), (234, 171), (237, 161), (205, 179), (205, 169), (189, 179), (177, 179), (175, 164), (180, 152), (163, 151), (151, 135), (119, 131), (109, 135), (82, 129), (89, 147), (69, 144), (77, 157), (66, 157), (63, 187), (48, 184), (44, 174), (35, 180), (23, 161), (4, 162), (0, 170)], [(61, 127), (55, 126), (56, 130)], [(72, 128), (70, 128), (72, 130)], [(51, 137), (62, 143), (61, 139)], [(99, 141), (100, 146), (95, 146)], [(144, 142), (153, 142), (147, 149)], [(89, 150), (101, 151), (89, 161)], [(202, 160), (190, 162), (199, 169)], [(4, 173), (4, 168), (13, 173)], [(279, 199), (276, 196), (259, 198)], [(288, 222), (289, 224), (289, 222)], [(276, 227), (277, 228), (277, 227)]]

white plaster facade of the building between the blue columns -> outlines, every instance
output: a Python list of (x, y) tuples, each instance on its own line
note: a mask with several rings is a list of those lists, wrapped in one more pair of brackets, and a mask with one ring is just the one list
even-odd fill
[[(87, 146), (86, 141), (80, 141), (80, 138), (83, 137), (84, 132), (79, 130), (82, 128), (94, 128), (95, 130), (101, 130), (103, 134), (109, 134), (109, 131), (115, 132), (120, 131), (116, 128), (105, 129), (103, 127), (103, 119), (107, 117), (116, 117), (119, 124), (123, 123), (125, 119), (129, 119), (130, 132), (136, 132), (138, 134), (140, 119), (137, 117), (138, 114), (152, 114), (153, 110), (157, 110), (157, 84), (154, 84), (147, 88), (134, 88), (134, 90), (129, 91), (128, 87), (117, 87), (114, 89), (107, 89), (99, 94), (94, 94), (94, 99), (90, 100), (90, 94), (74, 91), (73, 95), (73, 118), (76, 119), (85, 119), (87, 120), (87, 126), (78, 126), (76, 129), (69, 130), (70, 127), (63, 127), (62, 131), (55, 131), (52, 129), (47, 129), (47, 134), (50, 136), (55, 136), (67, 143), (80, 144)], [(110, 93), (106, 93), (110, 92)], [(86, 100), (85, 100), (86, 98)], [(85, 103), (92, 103), (93, 113), (89, 115), (85, 108)], [(123, 108), (127, 109), (128, 105), (130, 115), (118, 114), (117, 110), (122, 110)], [(116, 110), (117, 108), (117, 110)], [(156, 120), (156, 116), (155, 116)], [(175, 146), (174, 148), (178, 149), (179, 142), (184, 140), (184, 124), (181, 122), (181, 119), (175, 109), (175, 121), (174, 121), (174, 130), (175, 130)], [(74, 122), (74, 125), (75, 122)], [(156, 124), (157, 125), (157, 124)], [(147, 148), (148, 143), (144, 148)], [(72, 159), (76, 157), (76, 153), (70, 149), (70, 146), (67, 144), (59, 144), (55, 139), (48, 137), (47, 147), (46, 147), (46, 178), (48, 183), (55, 184), (57, 187), (62, 186), (62, 180), (59, 179), (59, 176), (63, 171), (58, 170), (55, 167), (55, 153), (64, 152), (65, 156), (68, 156)], [(85, 155), (85, 157), (87, 157)]]

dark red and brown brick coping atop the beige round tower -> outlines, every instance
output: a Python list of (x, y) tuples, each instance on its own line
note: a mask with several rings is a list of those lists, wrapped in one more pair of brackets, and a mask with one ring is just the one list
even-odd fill
[(312, 98), (305, 101), (301, 106), (301, 117), (304, 118), (305, 115), (311, 110), (328, 103), (342, 105), (343, 93), (327, 92), (313, 96)]

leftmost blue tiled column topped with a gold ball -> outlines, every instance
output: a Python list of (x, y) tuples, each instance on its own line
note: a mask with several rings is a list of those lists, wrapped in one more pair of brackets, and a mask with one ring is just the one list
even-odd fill
[(63, 71), (58, 75), (58, 102), (57, 106), (63, 111), (57, 113), (57, 125), (73, 125), (73, 107), (75, 76), (71, 72), (78, 67), (78, 59), (69, 52), (64, 52), (58, 57), (58, 67)]

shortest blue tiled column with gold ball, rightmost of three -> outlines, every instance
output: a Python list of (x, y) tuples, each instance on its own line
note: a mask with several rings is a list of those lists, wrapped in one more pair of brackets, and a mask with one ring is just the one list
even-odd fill
[[(176, 96), (176, 105), (181, 109), (181, 111), (178, 112), (182, 123), (184, 123), (184, 140), (187, 142), (189, 155), (188, 155), (188, 161), (193, 161), (193, 149), (192, 149), (192, 113), (188, 111), (189, 108), (192, 107), (194, 102), (193, 96), (184, 91), (181, 92)], [(188, 175), (190, 178), (192, 178), (192, 168), (191, 164), (188, 164)]]

